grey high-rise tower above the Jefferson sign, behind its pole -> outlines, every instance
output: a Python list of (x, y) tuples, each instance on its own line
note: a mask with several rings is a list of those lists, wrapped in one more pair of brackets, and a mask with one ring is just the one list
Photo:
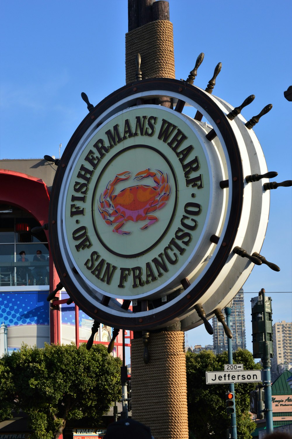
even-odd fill
[[(222, 312), (224, 313), (224, 309), (222, 310)], [(227, 336), (224, 333), (224, 328), (222, 324), (217, 320), (216, 317), (213, 317), (212, 323), (214, 330), (214, 351), (216, 353), (227, 351)], [(239, 348), (246, 349), (244, 297), (242, 288), (238, 291), (237, 295), (235, 295), (233, 299), (230, 315), (230, 328), (232, 332), (232, 350), (236, 351)]]

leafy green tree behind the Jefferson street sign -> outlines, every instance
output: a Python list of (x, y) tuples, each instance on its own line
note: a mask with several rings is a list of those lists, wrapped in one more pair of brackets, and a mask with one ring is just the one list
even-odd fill
[[(230, 415), (226, 411), (225, 393), (228, 384), (206, 385), (206, 371), (223, 371), (228, 363), (227, 352), (215, 355), (211, 351), (198, 354), (186, 353), (187, 361), (187, 404), (190, 438), (211, 439), (226, 437), (230, 427)], [(243, 363), (245, 370), (260, 369), (252, 353), (238, 349), (233, 353), (234, 363)], [(255, 383), (235, 384), (235, 406), (238, 439), (250, 439), (256, 425), (249, 416), (249, 392)]]

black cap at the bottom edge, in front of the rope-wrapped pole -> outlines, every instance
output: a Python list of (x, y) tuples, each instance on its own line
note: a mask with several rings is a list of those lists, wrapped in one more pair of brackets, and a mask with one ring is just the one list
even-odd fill
[(108, 425), (104, 439), (151, 439), (151, 430), (130, 417)]

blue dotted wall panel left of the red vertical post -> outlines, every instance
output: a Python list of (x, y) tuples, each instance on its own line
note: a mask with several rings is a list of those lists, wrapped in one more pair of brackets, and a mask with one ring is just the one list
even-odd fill
[(0, 293), (0, 323), (7, 327), (50, 323), (49, 291)]

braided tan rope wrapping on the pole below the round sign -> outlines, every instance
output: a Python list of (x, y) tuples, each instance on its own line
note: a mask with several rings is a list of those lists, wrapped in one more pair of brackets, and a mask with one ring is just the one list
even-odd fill
[(142, 338), (131, 341), (133, 419), (148, 425), (155, 439), (188, 439), (184, 332), (150, 334), (148, 364)]

